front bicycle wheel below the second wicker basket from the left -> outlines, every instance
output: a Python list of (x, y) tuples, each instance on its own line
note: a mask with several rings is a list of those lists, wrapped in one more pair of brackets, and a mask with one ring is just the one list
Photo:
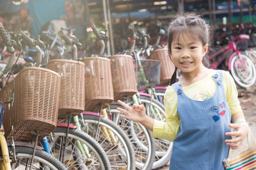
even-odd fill
[[(49, 136), (52, 155), (59, 159), (61, 142), (65, 141), (66, 127), (57, 127)], [(85, 145), (88, 151), (81, 151)], [(81, 130), (69, 129), (64, 165), (67, 169), (111, 169), (109, 159), (103, 148), (90, 135)], [(62, 156), (62, 155), (61, 155)]]

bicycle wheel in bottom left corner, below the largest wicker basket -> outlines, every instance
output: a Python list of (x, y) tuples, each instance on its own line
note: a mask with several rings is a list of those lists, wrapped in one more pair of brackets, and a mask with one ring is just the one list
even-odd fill
[[(14, 154), (13, 147), (8, 147), (9, 152)], [(11, 155), (10, 154), (10, 155)], [(26, 146), (16, 146), (15, 147), (15, 155), (16, 162), (11, 163), (11, 169), (25, 169), (27, 160), (29, 160), (28, 168), (31, 166), (31, 158), (33, 154), (33, 148)], [(2, 156), (2, 152), (1, 152)], [(11, 158), (14, 161), (14, 155), (11, 155)], [(32, 169), (52, 169), (52, 170), (60, 170), (67, 169), (64, 165), (54, 158), (52, 155), (48, 154), (43, 150), (36, 150), (34, 156), (34, 162), (32, 164)]]

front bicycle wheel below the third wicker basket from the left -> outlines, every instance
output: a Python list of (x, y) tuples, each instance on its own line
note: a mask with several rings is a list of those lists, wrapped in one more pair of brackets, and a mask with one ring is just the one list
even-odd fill
[(113, 121), (101, 117), (100, 128), (98, 116), (84, 114), (85, 126), (82, 129), (85, 133), (97, 138), (97, 142), (104, 148), (112, 169), (135, 169), (135, 156), (133, 146), (125, 134)]

